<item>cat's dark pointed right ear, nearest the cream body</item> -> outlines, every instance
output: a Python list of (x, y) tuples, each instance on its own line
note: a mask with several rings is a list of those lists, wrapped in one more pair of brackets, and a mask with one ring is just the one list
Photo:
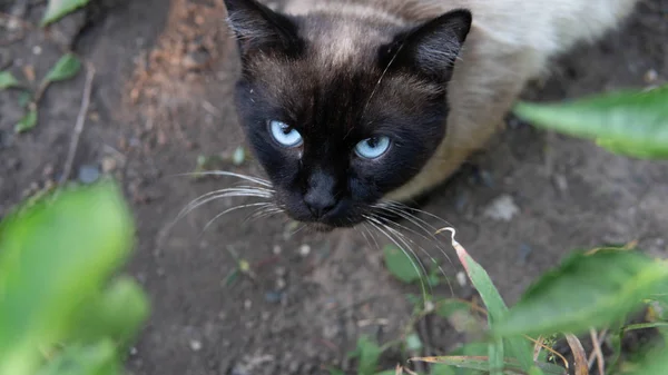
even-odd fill
[(469, 34), (471, 20), (470, 11), (453, 10), (404, 31), (381, 48), (381, 65), (446, 81)]

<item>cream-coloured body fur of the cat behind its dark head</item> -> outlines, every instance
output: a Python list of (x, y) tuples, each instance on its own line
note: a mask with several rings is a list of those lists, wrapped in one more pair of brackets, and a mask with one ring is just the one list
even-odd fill
[[(422, 171), (387, 196), (409, 200), (443, 182), (502, 128), (549, 59), (615, 28), (638, 0), (289, 0), (284, 11), (324, 11), (412, 23), (465, 8), (473, 26), (449, 83), (448, 134)], [(346, 40), (340, 40), (345, 45)]]

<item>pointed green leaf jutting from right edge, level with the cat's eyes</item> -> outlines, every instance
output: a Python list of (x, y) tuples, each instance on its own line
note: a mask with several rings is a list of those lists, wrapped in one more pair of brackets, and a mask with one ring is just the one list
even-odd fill
[(593, 139), (616, 154), (668, 158), (668, 85), (563, 103), (519, 102), (513, 111), (537, 127)]

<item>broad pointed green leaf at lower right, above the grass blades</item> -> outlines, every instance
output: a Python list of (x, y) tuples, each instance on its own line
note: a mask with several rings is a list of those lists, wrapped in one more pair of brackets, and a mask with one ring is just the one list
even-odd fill
[(603, 327), (637, 308), (667, 277), (665, 263), (638, 251), (576, 253), (530, 287), (493, 334), (577, 335)]

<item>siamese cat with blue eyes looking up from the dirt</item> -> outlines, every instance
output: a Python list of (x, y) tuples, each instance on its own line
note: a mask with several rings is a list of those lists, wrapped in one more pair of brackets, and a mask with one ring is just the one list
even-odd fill
[(225, 0), (272, 199), (326, 230), (448, 179), (549, 60), (637, 0)]

